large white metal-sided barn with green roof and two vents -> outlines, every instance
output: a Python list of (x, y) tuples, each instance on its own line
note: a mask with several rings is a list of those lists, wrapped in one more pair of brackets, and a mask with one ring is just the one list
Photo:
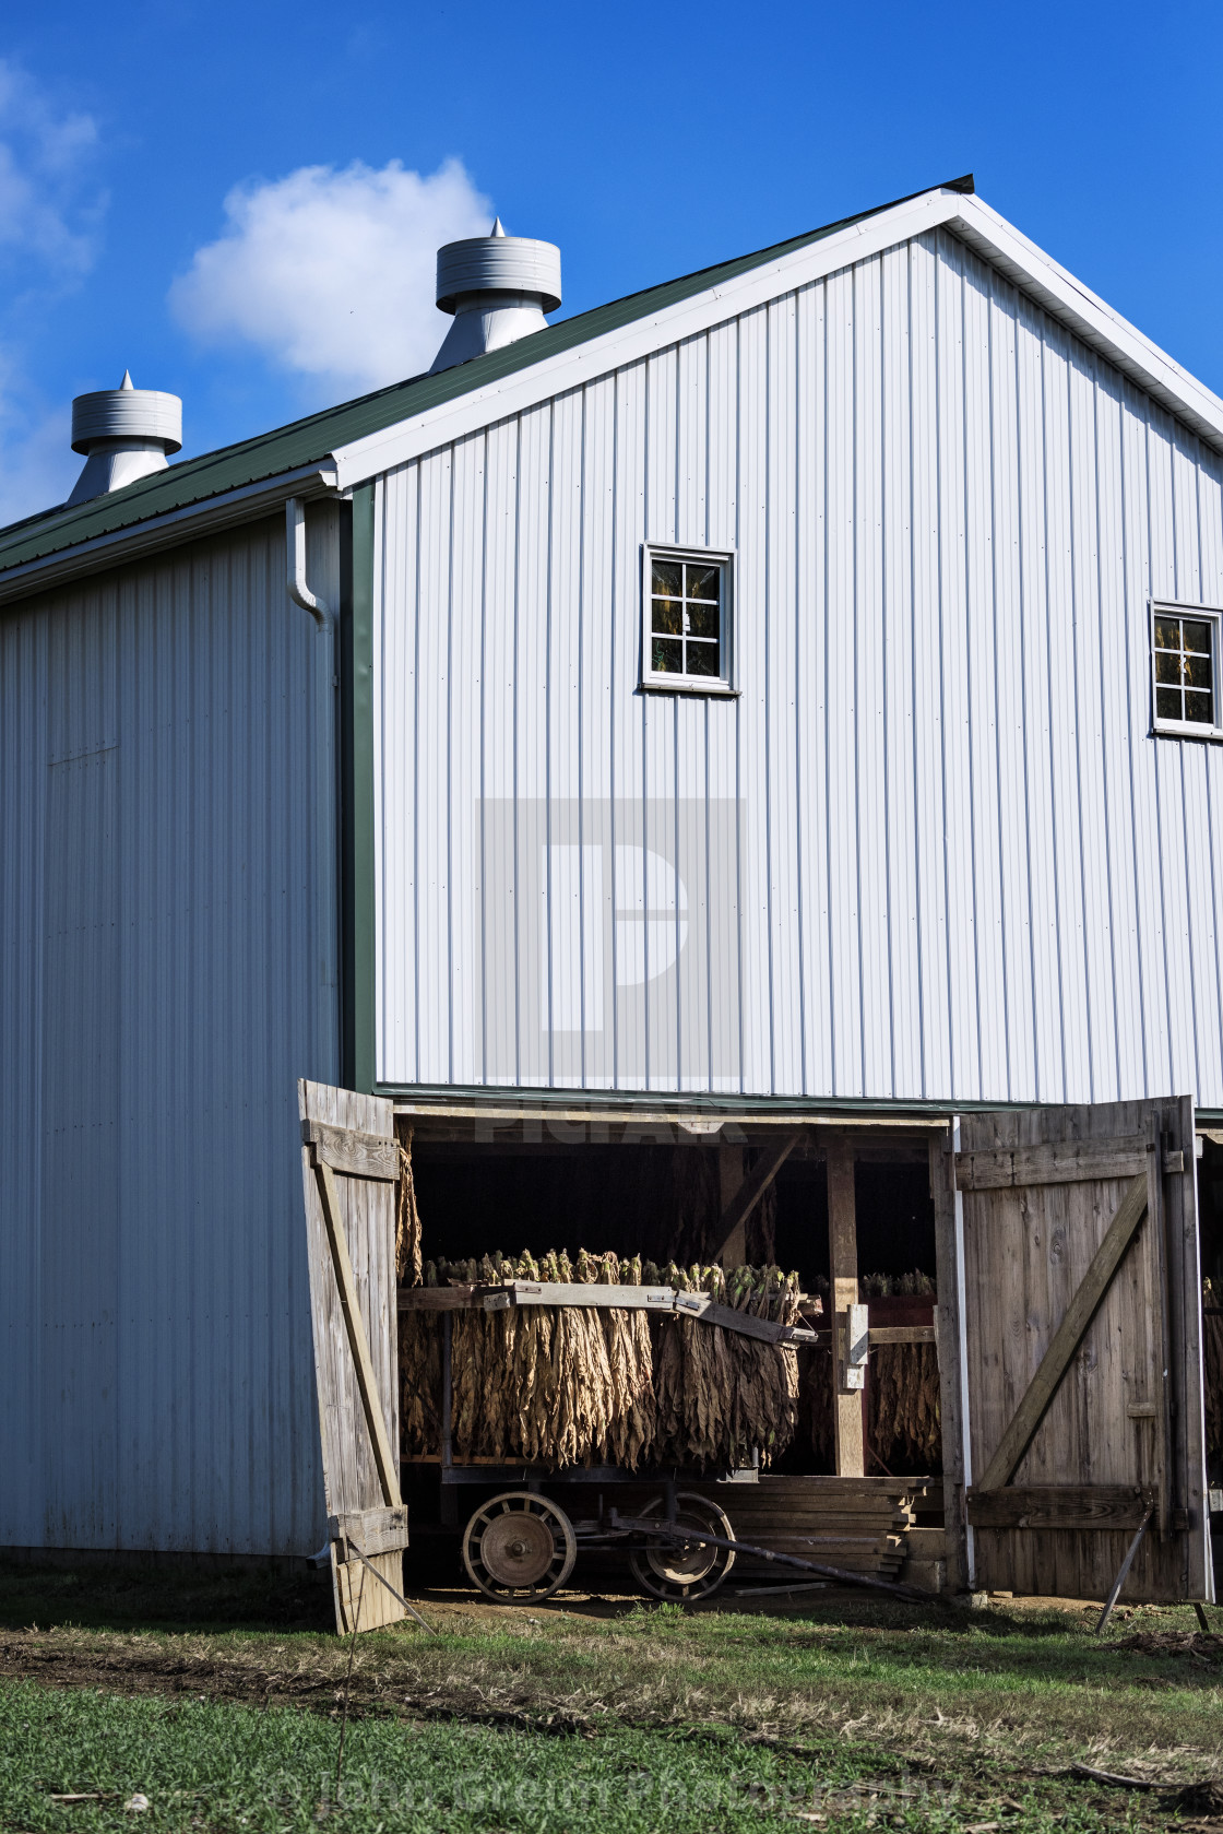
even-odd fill
[(1212, 1597), (1223, 402), (972, 180), (559, 297), (451, 244), (429, 374), (185, 462), (83, 396), (0, 534), (0, 1546), (326, 1539), (304, 1119), (431, 1254), (924, 1271), (953, 1581)]

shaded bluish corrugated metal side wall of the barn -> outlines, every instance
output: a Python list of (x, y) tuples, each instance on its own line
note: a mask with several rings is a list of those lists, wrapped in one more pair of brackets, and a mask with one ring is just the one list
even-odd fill
[(315, 657), (279, 521), (0, 618), (0, 1544), (321, 1539)]

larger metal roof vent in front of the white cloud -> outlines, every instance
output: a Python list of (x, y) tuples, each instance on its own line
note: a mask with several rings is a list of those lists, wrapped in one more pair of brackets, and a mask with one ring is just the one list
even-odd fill
[(559, 303), (561, 251), (554, 242), (506, 235), (501, 216), (490, 235), (447, 242), (438, 249), (438, 312), (453, 312), (455, 323), (429, 374), (545, 330), (545, 312)]

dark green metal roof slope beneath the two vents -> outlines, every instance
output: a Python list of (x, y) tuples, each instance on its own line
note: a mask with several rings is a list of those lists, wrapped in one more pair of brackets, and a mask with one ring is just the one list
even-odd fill
[[(972, 191), (974, 185), (972, 176), (966, 176), (953, 178), (942, 187), (926, 187), (926, 191), (931, 189)], [(317, 464), (339, 446), (394, 427), (429, 407), (440, 407), (471, 389), (499, 381), (502, 376), (512, 376), (515, 370), (545, 361), (545, 358), (572, 350), (605, 332), (620, 330), (623, 325), (633, 325), (636, 319), (649, 317), (651, 312), (678, 304), (691, 299), (693, 293), (702, 293), (722, 281), (733, 281), (739, 273), (748, 273), (752, 268), (790, 255), (838, 229), (849, 229), (869, 216), (895, 209), (897, 204), (908, 204), (909, 198), (920, 196), (924, 191), (913, 191), (908, 198), (893, 198), (889, 204), (878, 204), (856, 216), (842, 216), (834, 224), (809, 229), (805, 235), (790, 237), (788, 242), (774, 242), (772, 248), (757, 249), (754, 255), (739, 255), (735, 260), (686, 273), (678, 281), (666, 281), (662, 286), (629, 293), (625, 299), (596, 306), (592, 312), (581, 312), (578, 317), (563, 319), (543, 332), (521, 337), (504, 350), (490, 350), (488, 356), (473, 358), (469, 363), (442, 370), (438, 376), (411, 376), (407, 381), (376, 389), (374, 394), (363, 394), (356, 402), (326, 407), (306, 420), (293, 420), (288, 427), (260, 433), (253, 440), (238, 440), (237, 446), (222, 446), (220, 451), (204, 453), (200, 458), (187, 458), (167, 471), (156, 471), (136, 484), (110, 492), (106, 497), (83, 503), (75, 510), (51, 510), (46, 515), (26, 517), (26, 521), (0, 530), (0, 576), (11, 567), (22, 567), (64, 548), (79, 547), (95, 536), (110, 536), (149, 517), (183, 510), (244, 484), (257, 484), (279, 477), (282, 471)]]

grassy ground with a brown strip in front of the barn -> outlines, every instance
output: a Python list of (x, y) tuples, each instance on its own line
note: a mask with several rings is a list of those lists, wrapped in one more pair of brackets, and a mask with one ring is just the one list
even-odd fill
[(325, 1588), (0, 1568), (0, 1825), (1027, 1834), (1175, 1825), (1166, 1792), (1074, 1761), (1223, 1777), (1223, 1641), (1190, 1645), (1188, 1610), (1096, 1640), (1076, 1610), (845, 1596), (770, 1616), (422, 1605), (438, 1636), (358, 1641), (337, 1795), (348, 1645)]

